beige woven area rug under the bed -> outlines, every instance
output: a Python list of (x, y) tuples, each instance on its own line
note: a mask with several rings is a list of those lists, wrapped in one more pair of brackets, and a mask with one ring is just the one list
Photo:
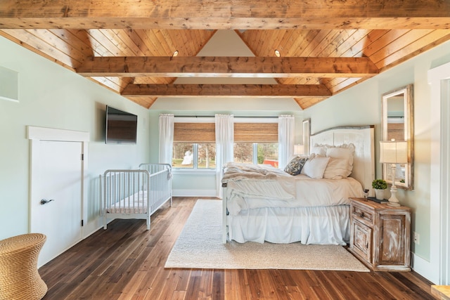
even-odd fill
[(339, 245), (221, 242), (220, 200), (198, 200), (165, 268), (349, 270), (368, 272)]

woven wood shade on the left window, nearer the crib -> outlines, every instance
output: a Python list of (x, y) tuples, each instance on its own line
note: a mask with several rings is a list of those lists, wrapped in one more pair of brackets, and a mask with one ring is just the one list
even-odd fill
[(214, 143), (216, 124), (214, 123), (174, 123), (174, 142)]

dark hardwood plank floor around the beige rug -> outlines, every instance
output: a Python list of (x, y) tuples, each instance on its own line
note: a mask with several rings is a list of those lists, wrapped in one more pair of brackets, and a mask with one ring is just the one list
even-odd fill
[(198, 197), (115, 220), (39, 268), (44, 299), (435, 299), (415, 272), (165, 269)]

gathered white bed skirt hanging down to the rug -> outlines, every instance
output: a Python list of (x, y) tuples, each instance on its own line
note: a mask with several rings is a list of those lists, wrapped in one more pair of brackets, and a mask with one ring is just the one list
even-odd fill
[(229, 240), (345, 245), (350, 239), (349, 211), (349, 205), (246, 209), (227, 216)]

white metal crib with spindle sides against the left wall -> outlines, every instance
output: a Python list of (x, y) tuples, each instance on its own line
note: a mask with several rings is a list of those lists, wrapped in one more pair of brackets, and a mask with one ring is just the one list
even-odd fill
[(101, 176), (103, 229), (108, 220), (145, 219), (170, 200), (172, 206), (172, 166), (140, 164), (139, 169), (110, 169)]

